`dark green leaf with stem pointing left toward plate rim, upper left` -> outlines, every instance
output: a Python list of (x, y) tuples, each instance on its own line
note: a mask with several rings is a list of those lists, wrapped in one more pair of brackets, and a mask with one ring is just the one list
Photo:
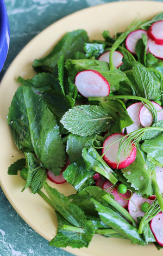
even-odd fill
[(23, 79), (18, 76), (17, 82), (21, 85), (28, 86), (35, 93), (44, 93), (51, 90), (61, 91), (58, 78), (49, 73), (39, 73), (32, 79)]

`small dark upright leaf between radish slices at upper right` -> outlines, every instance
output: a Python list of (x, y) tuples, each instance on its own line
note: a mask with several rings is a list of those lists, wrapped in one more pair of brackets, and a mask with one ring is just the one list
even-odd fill
[(141, 64), (146, 66), (146, 53), (147, 53), (148, 38), (142, 33), (142, 38), (139, 39), (135, 46), (137, 58)]

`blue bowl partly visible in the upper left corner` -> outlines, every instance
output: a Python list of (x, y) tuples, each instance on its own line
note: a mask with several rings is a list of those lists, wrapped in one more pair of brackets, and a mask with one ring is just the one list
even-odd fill
[(8, 54), (10, 26), (4, 0), (0, 0), (0, 72)]

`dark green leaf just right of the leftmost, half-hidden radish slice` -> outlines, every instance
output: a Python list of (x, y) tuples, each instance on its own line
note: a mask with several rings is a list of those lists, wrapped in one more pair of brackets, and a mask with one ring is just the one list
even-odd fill
[(93, 174), (93, 171), (86, 169), (83, 158), (81, 157), (77, 162), (69, 165), (63, 172), (65, 180), (68, 181), (68, 183), (70, 183), (77, 191), (95, 183), (92, 178)]

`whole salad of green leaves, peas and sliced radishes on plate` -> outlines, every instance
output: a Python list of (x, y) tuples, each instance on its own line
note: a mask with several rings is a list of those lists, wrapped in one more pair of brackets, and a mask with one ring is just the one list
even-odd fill
[[(92, 40), (79, 29), (18, 77), (8, 124), (26, 179), (58, 218), (51, 246), (88, 247), (93, 235), (163, 246), (163, 13)], [(70, 183), (65, 197), (50, 187)], [(42, 192), (45, 188), (46, 194)]]

